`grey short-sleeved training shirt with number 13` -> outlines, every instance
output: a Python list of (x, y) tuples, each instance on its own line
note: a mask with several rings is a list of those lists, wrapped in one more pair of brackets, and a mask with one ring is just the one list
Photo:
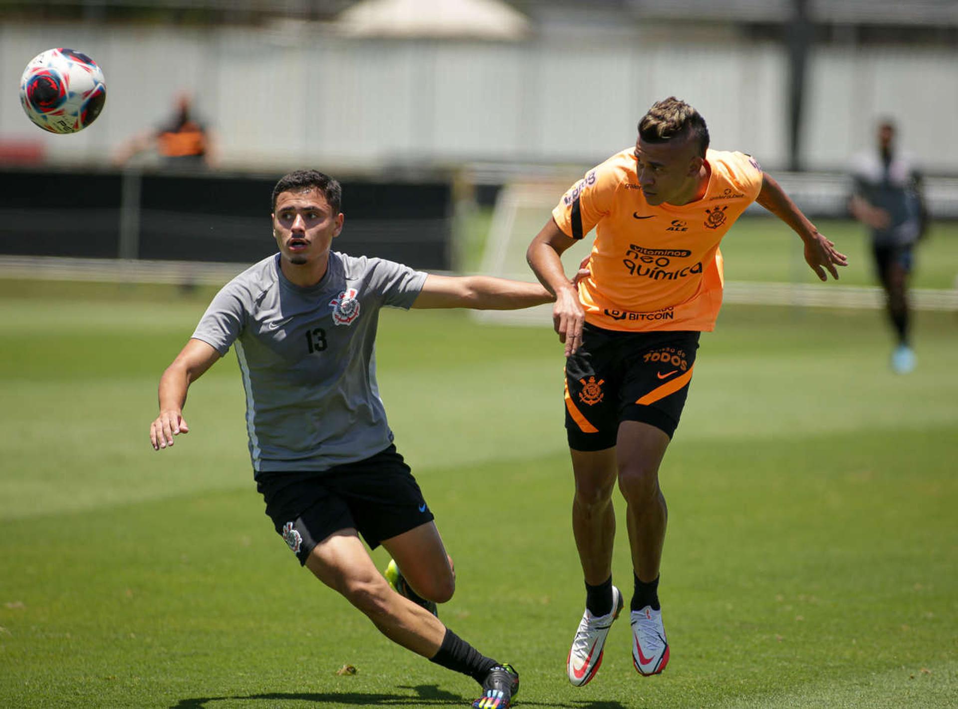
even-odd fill
[(235, 345), (254, 470), (326, 470), (390, 445), (376, 384), (379, 309), (410, 308), (425, 278), (331, 252), (322, 281), (304, 288), (275, 254), (222, 287), (193, 336), (219, 354)]

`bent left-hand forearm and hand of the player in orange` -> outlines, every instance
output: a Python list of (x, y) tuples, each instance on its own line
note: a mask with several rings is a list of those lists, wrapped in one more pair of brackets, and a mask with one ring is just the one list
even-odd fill
[[(565, 343), (565, 356), (575, 353), (582, 344), (582, 324), (585, 322), (579, 291), (575, 284), (565, 277), (559, 258), (562, 252), (575, 242), (576, 240), (567, 237), (559, 229), (555, 219), (550, 218), (526, 250), (526, 261), (539, 283), (556, 294), (556, 305), (552, 308), (552, 324), (556, 332), (559, 332), (559, 342)], [(580, 272), (582, 268), (580, 265)]]

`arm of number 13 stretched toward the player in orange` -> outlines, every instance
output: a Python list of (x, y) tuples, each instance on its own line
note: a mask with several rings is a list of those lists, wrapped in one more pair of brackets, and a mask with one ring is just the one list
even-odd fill
[(437, 276), (430, 273), (413, 308), (516, 310), (551, 303), (552, 299), (552, 293), (536, 283), (492, 276)]

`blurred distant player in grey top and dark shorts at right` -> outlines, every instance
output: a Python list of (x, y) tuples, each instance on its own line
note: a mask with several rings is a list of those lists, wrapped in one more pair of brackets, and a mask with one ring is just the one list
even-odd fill
[(855, 156), (849, 209), (872, 233), (875, 269), (897, 338), (891, 365), (898, 374), (907, 374), (915, 368), (908, 276), (915, 243), (927, 233), (928, 213), (921, 172), (912, 157), (898, 148), (895, 138), (895, 124), (882, 120), (878, 123), (876, 149)]

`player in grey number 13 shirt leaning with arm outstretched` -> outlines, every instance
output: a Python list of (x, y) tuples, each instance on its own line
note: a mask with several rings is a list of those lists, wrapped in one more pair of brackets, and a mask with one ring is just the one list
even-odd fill
[[(547, 303), (538, 284), (436, 276), (331, 251), (343, 228), (328, 175), (291, 172), (273, 190), (279, 253), (224, 286), (163, 373), (156, 450), (187, 433), (190, 385), (230, 346), (246, 391), (246, 426), (266, 514), (320, 581), (383, 634), (483, 687), (474, 707), (505, 709), (518, 674), (477, 652), (435, 615), (455, 588), (422, 492), (392, 445), (376, 385), (376, 323), (396, 308), (517, 309)], [(363, 546), (382, 544), (384, 578)]]

